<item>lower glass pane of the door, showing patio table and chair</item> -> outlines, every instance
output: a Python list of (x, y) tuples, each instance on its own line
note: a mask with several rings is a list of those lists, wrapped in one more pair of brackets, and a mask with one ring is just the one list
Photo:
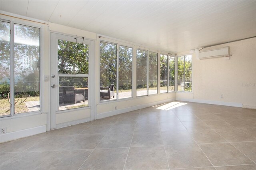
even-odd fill
[(88, 106), (88, 77), (59, 77), (59, 111)]

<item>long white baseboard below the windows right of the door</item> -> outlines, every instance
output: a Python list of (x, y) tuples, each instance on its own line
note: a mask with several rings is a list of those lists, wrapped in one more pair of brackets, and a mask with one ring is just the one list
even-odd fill
[(154, 105), (160, 105), (162, 103), (172, 102), (172, 101), (175, 101), (175, 100), (176, 100), (176, 98), (170, 98), (170, 99), (161, 100), (161, 101), (157, 101), (157, 102), (153, 102), (153, 103), (146, 103), (144, 105), (138, 105), (138, 106), (128, 107), (128, 108), (124, 108), (124, 109), (118, 109), (118, 110), (115, 110), (115, 111), (100, 113), (100, 114), (97, 115), (97, 119), (102, 119), (102, 118), (105, 118), (105, 117), (119, 115), (119, 114), (122, 114), (122, 113), (135, 111), (135, 110), (138, 110), (138, 109), (143, 109), (143, 108), (151, 107), (151, 106), (154, 106)]

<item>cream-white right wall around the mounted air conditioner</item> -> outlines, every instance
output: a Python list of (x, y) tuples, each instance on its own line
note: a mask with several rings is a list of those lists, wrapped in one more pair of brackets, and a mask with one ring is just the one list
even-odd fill
[[(256, 38), (204, 50), (225, 46), (230, 46), (230, 53), (232, 53), (230, 60), (224, 60), (221, 57), (198, 60), (192, 54), (192, 95), (176, 93), (177, 99), (217, 101), (217, 104), (231, 105), (234, 103), (256, 109)], [(188, 52), (178, 53), (178, 55)]]

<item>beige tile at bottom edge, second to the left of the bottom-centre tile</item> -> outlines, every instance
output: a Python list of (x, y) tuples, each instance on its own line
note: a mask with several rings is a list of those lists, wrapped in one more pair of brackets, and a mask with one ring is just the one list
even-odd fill
[(36, 170), (77, 170), (92, 150), (61, 150), (51, 152), (47, 160)]

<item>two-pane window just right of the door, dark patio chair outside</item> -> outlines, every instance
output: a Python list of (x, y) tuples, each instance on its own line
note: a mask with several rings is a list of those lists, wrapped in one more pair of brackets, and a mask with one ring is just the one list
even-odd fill
[(132, 48), (101, 41), (100, 101), (130, 97), (132, 97)]

